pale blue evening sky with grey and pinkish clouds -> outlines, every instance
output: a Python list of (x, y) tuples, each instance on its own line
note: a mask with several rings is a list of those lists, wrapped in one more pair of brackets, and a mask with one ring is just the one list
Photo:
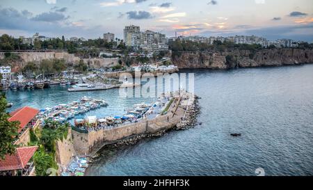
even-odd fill
[(177, 35), (313, 42), (312, 0), (0, 0), (0, 35), (122, 39), (125, 26)]

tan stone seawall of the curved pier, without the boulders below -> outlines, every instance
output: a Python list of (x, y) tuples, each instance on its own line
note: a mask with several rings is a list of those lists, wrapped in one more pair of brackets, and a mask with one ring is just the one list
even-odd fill
[[(141, 120), (137, 123), (122, 125), (114, 129), (99, 129), (88, 133), (81, 133), (72, 130), (72, 141), (77, 155), (90, 155), (106, 144), (118, 143), (123, 139), (142, 134), (157, 134), (168, 129), (173, 129), (184, 117), (184, 107), (182, 99), (193, 98), (193, 95), (186, 94), (176, 97), (172, 102), (166, 115), (159, 116), (152, 120)], [(192, 102), (192, 101), (191, 101)]]

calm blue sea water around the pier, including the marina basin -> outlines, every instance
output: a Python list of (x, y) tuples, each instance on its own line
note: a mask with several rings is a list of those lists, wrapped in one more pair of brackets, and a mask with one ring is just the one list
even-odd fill
[[(182, 72), (195, 73), (202, 125), (103, 150), (87, 175), (256, 175), (257, 168), (265, 175), (313, 175), (313, 65)], [(117, 93), (67, 93), (56, 87), (9, 91), (7, 97), (13, 109), (45, 108), (83, 95), (108, 100), (107, 108), (88, 113), (97, 116), (120, 115), (132, 104), (154, 101)]]

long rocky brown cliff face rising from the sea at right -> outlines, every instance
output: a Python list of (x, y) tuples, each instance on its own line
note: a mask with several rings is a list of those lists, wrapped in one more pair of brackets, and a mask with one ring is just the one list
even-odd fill
[(313, 63), (313, 49), (233, 50), (229, 52), (173, 52), (179, 68), (254, 68)]

